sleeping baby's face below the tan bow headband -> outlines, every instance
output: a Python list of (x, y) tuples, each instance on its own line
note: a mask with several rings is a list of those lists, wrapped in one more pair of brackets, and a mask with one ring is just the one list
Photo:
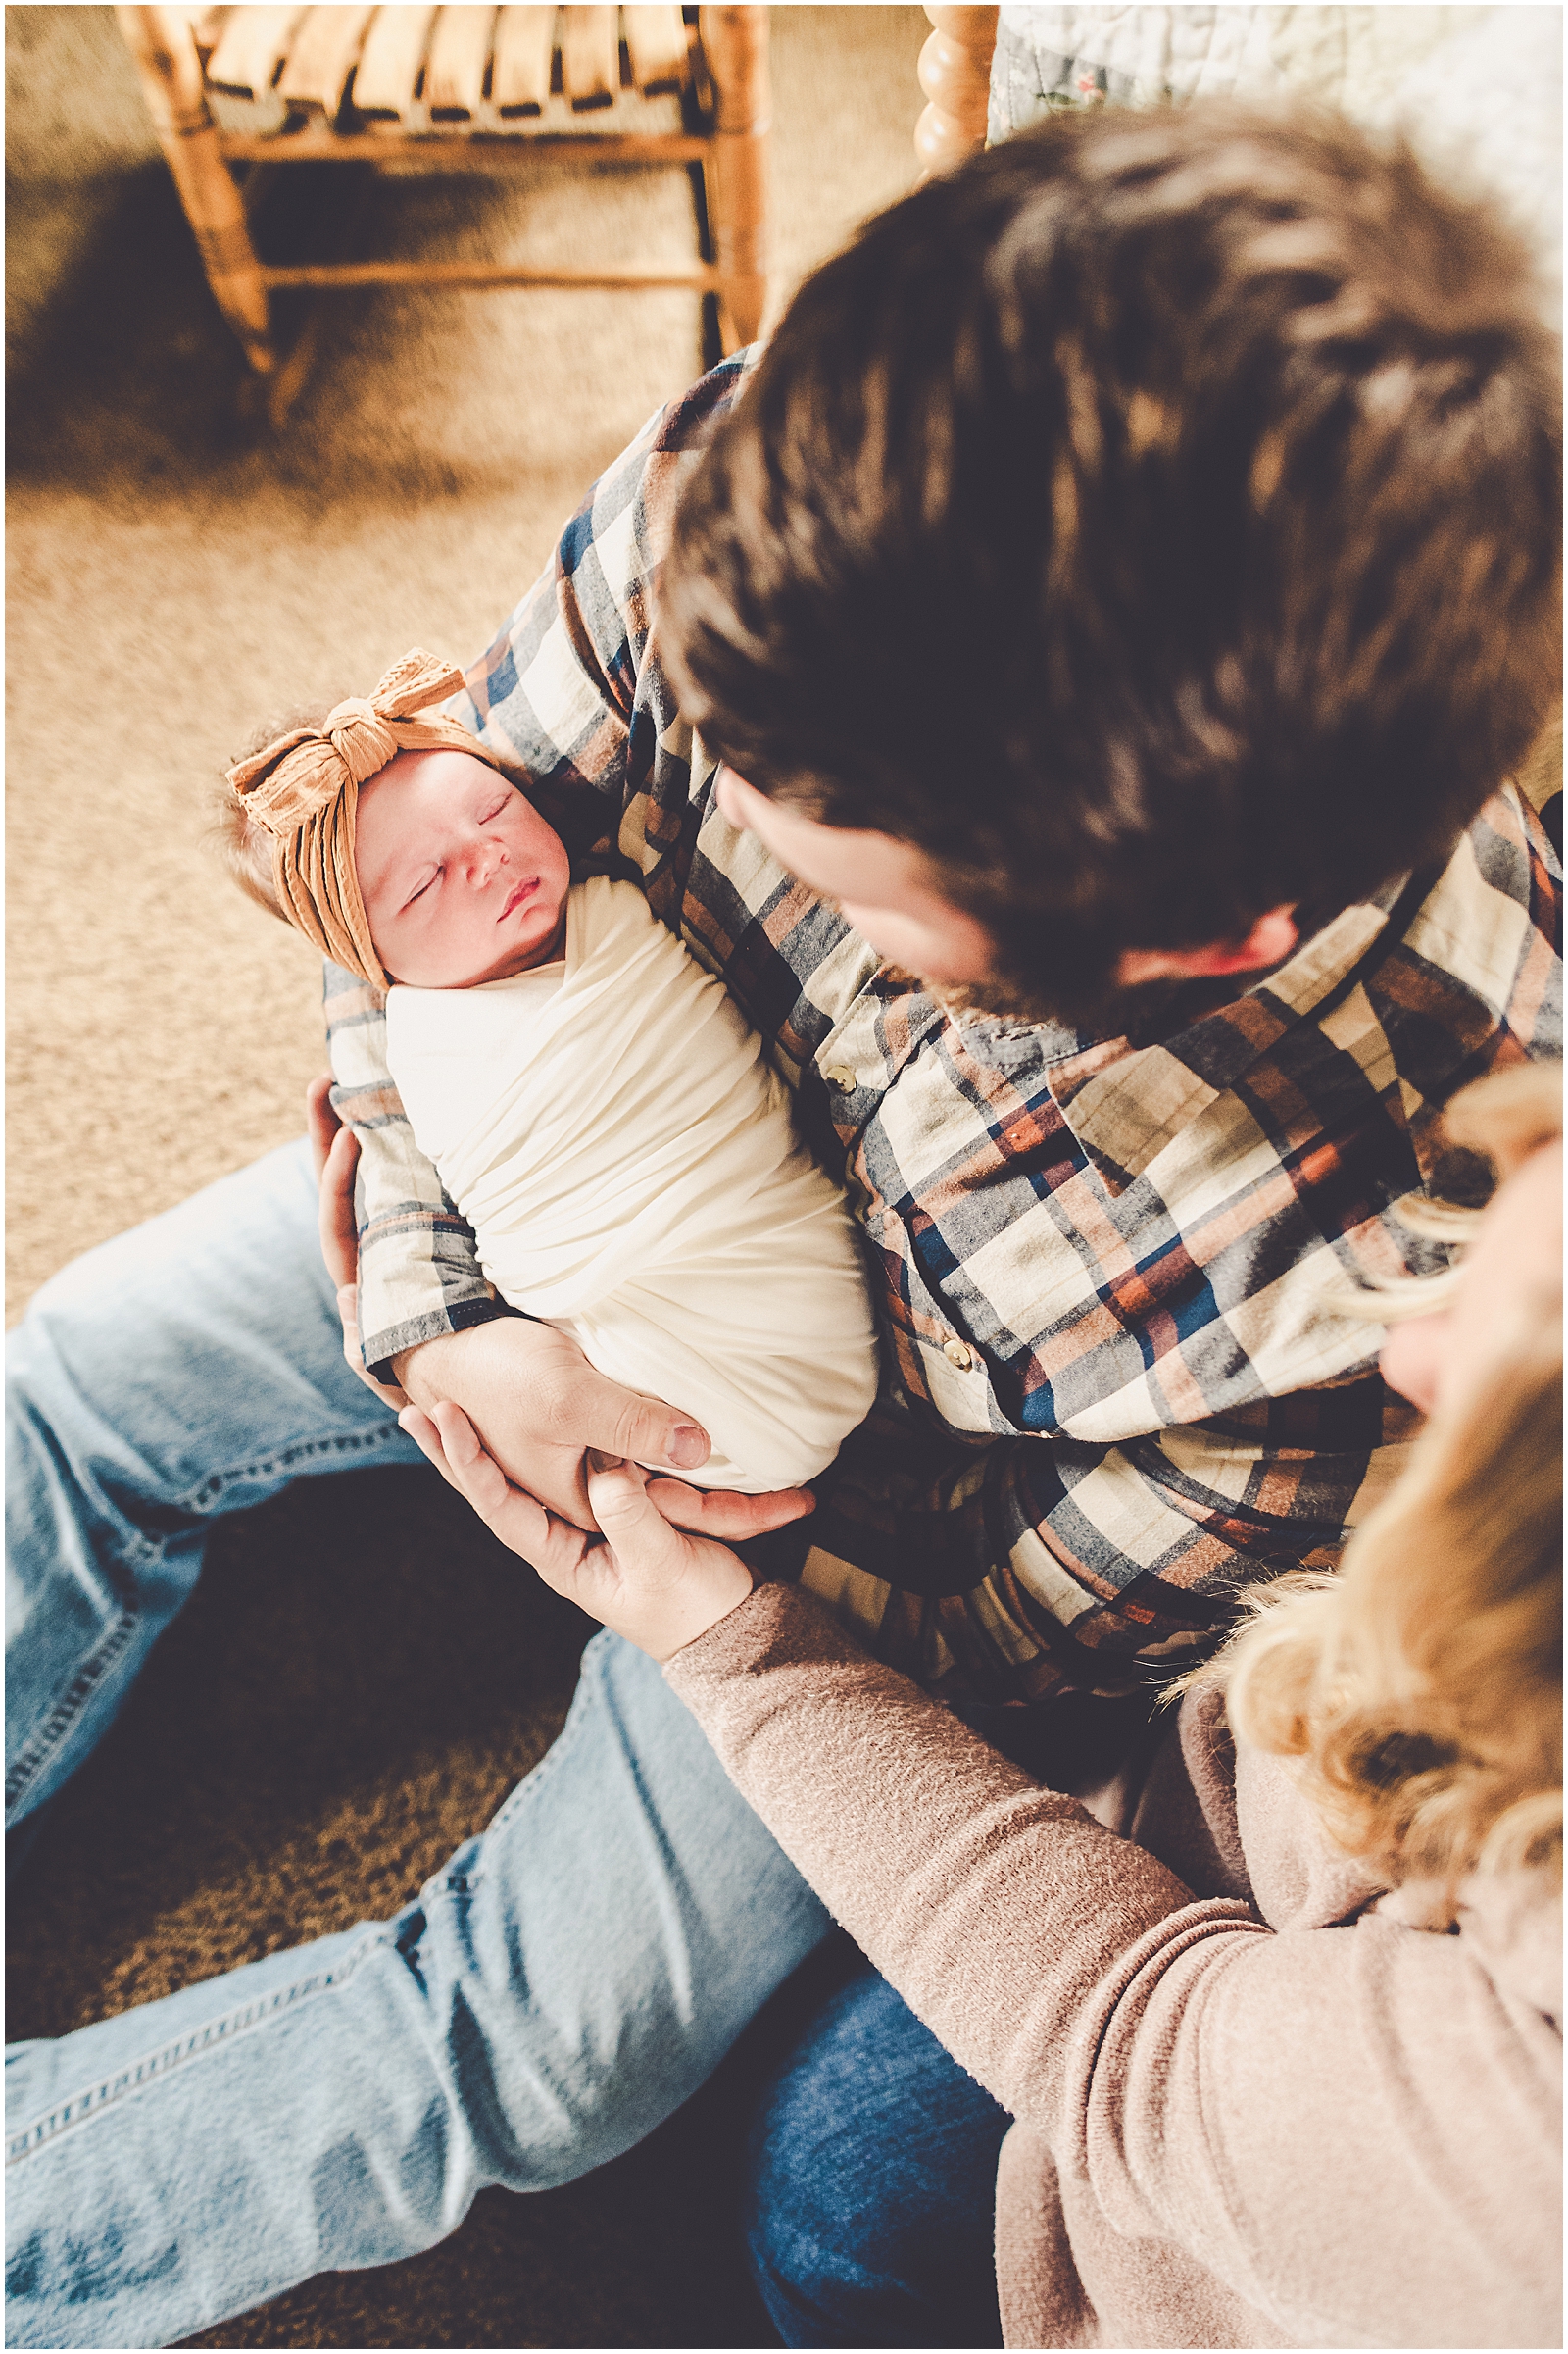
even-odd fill
[(400, 751), (360, 786), (356, 866), (370, 937), (412, 989), (471, 989), (565, 946), (567, 855), (469, 751)]

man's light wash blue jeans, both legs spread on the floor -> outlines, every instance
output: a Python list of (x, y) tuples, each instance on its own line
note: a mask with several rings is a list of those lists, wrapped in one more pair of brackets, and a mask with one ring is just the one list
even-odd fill
[[(7, 1375), (7, 1827), (108, 1730), (219, 1514), (412, 1457), (344, 1365), (304, 1144), (49, 1283)], [(600, 1634), (556, 1747), (393, 1921), (7, 2053), (9, 2345), (170, 2345), (603, 2166), (826, 1928)]]

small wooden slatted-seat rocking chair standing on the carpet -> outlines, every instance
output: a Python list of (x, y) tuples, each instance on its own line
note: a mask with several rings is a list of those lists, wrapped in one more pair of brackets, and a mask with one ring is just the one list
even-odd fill
[[(315, 337), (311, 315), (280, 346), (278, 287), (692, 287), (718, 299), (725, 351), (758, 332), (770, 233), (765, 7), (118, 7), (115, 16), (207, 282), (273, 424), (306, 379)], [(678, 127), (626, 122), (659, 92), (678, 97), (666, 108)], [(699, 165), (706, 252), (687, 268), (271, 266), (252, 242), (275, 165), (506, 172), (542, 153)]]

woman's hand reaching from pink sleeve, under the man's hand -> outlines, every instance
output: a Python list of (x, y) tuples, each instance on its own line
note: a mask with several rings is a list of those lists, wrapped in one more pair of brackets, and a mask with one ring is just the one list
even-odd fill
[(655, 1660), (695, 1643), (751, 1594), (746, 1563), (723, 1544), (671, 1528), (636, 1464), (591, 1457), (586, 1492), (603, 1537), (589, 1537), (513, 1488), (454, 1405), (438, 1405), (433, 1415), (410, 1405), (398, 1419), (485, 1528), (532, 1561), (546, 1587)]

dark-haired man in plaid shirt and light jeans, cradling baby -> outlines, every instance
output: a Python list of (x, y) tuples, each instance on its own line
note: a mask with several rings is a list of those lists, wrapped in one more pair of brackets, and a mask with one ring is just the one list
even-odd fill
[[(1335, 1295), (1441, 1264), (1394, 1215), (1448, 1182), (1439, 1106), (1559, 1052), (1556, 866), (1504, 782), (1556, 673), (1556, 501), (1547, 339), (1483, 214), (1337, 127), (1052, 125), (655, 419), (469, 673), (574, 862), (626, 862), (798, 1080), (871, 1243), (878, 1410), (810, 1518), (725, 1532), (789, 1523), (775, 1565), (1055, 1789), (1062, 1695), (1147, 1690), (1243, 1584), (1333, 1568), (1415, 1429)], [(591, 1448), (699, 1471), (678, 1398), (504, 1311), (374, 993), (330, 1015), (351, 1304), (410, 1427), (466, 1417), (579, 1523)], [(40, 1295), (12, 1820), (214, 1509), (412, 1457), (313, 1217), (273, 1156)], [(14, 2057), (14, 2342), (167, 2342), (603, 2163), (826, 1928), (600, 1636), (396, 1921)]]

